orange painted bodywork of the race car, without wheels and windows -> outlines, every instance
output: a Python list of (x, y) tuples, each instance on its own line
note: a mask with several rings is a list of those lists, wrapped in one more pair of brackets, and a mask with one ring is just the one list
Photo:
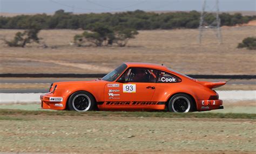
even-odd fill
[[(78, 91), (86, 91), (95, 97), (99, 110), (164, 110), (172, 95), (185, 93), (193, 97), (197, 111), (220, 109), (223, 101), (218, 99), (218, 94), (211, 88), (225, 85), (226, 82), (207, 82), (187, 78), (185, 75), (171, 71), (166, 66), (146, 63), (125, 63), (127, 68), (151, 68), (178, 76), (181, 82), (176, 83), (139, 83), (117, 80), (113, 82), (105, 80), (70, 81), (53, 83), (50, 91), (57, 85), (55, 91), (41, 95), (43, 109), (65, 110), (71, 94)], [(125, 93), (125, 85), (136, 85), (136, 92)], [(146, 87), (156, 87), (147, 89)], [(213, 96), (213, 99), (210, 97)], [(50, 99), (60, 99), (50, 101)]]

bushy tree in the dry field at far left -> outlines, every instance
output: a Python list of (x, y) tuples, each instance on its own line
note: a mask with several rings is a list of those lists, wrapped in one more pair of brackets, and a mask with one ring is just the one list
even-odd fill
[(5, 43), (10, 47), (25, 47), (26, 44), (35, 42), (39, 43), (37, 36), (39, 29), (29, 29), (24, 32), (17, 32), (13, 40), (4, 40)]

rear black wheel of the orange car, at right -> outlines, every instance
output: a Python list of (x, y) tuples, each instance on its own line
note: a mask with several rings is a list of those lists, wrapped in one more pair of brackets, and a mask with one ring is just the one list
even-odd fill
[(171, 97), (168, 103), (168, 109), (174, 113), (187, 113), (193, 111), (194, 103), (187, 94), (176, 94)]

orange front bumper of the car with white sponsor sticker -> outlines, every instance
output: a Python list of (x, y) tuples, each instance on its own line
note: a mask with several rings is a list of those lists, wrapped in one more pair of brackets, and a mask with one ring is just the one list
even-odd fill
[(40, 96), (42, 109), (65, 110), (66, 97), (55, 96), (51, 93), (42, 94)]

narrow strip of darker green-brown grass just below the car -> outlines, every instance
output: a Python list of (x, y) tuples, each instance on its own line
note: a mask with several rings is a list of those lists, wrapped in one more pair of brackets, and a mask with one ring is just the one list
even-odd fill
[[(29, 110), (13, 110), (0, 109), (0, 115), (53, 115), (53, 116), (114, 116), (114, 117), (165, 117), (165, 118), (243, 118), (255, 119), (256, 114), (242, 113), (169, 113), (164, 111), (88, 111), (86, 113), (78, 113), (75, 111), (29, 111)], [(2, 120), (8, 120), (8, 117), (2, 117)], [(10, 120), (15, 120), (11, 119)], [(0, 117), (1, 120), (1, 117)], [(17, 119), (18, 120), (18, 119)]]

